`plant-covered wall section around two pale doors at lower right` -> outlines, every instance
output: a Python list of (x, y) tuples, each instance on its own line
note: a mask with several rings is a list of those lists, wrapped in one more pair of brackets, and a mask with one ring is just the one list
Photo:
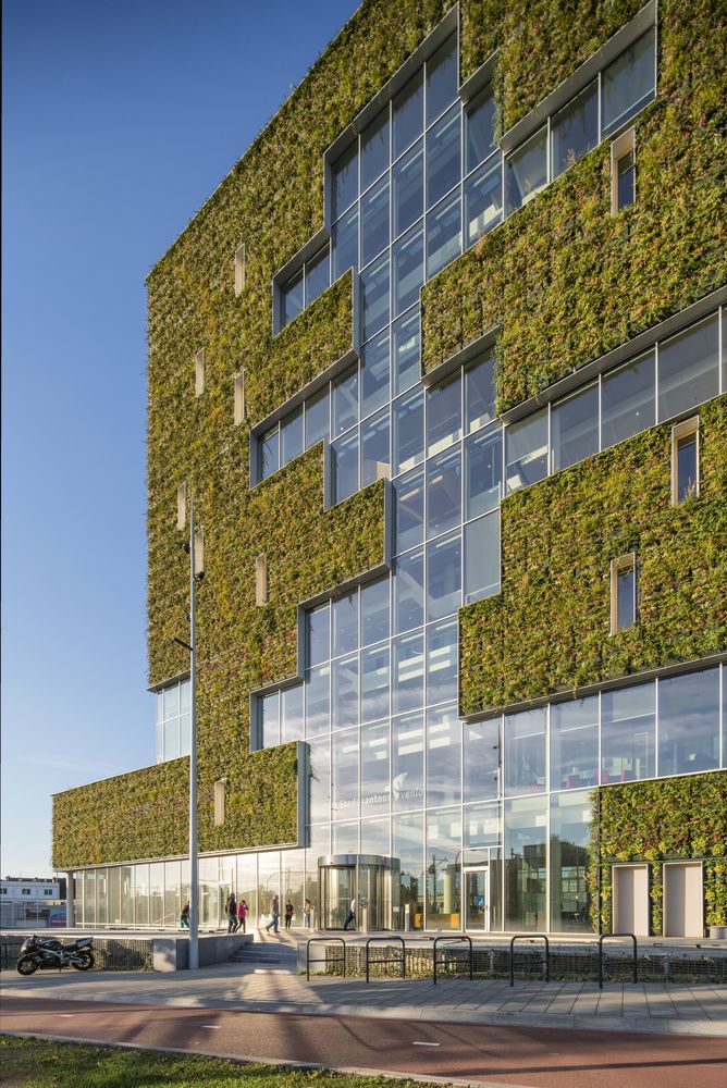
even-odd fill
[(613, 928), (615, 862), (650, 863), (653, 936), (663, 932), (662, 863), (668, 861), (702, 860), (704, 925), (727, 925), (727, 771), (603, 787), (594, 794), (591, 830), (593, 920), (597, 927), (600, 867), (603, 932)]

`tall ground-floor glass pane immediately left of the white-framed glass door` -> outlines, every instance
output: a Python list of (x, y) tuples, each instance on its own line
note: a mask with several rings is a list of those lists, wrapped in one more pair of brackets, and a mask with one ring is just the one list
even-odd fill
[(461, 809), (427, 814), (427, 928), (458, 929)]

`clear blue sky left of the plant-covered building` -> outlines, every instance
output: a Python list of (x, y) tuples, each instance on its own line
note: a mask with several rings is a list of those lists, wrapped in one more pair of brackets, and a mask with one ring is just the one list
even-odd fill
[(144, 277), (356, 7), (5, 0), (2, 876), (155, 762)]

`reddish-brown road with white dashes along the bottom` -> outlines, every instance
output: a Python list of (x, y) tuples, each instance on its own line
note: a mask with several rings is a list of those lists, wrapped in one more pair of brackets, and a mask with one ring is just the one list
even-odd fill
[(727, 1084), (727, 1040), (704, 1036), (338, 1019), (29, 997), (3, 999), (0, 1029), (518, 1088)]

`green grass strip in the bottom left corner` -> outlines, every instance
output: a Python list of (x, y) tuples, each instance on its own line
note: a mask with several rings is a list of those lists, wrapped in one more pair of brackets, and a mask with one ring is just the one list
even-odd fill
[[(245, 1065), (223, 1058), (89, 1047), (0, 1036), (0, 1085), (7, 1088), (391, 1088), (385, 1077), (325, 1070)], [(408, 1088), (416, 1088), (408, 1081)]]

